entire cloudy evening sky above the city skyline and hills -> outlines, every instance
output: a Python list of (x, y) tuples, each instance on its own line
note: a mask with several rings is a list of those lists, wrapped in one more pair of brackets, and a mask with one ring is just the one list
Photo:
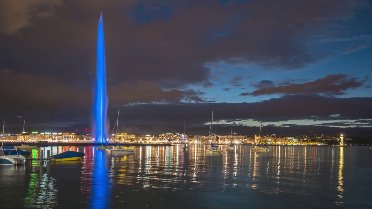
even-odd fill
[[(119, 125), (372, 128), (371, 0), (0, 1), (7, 126), (90, 123), (97, 26)], [(123, 130), (124, 131), (124, 130)], [(208, 132), (208, 131), (206, 131)]]

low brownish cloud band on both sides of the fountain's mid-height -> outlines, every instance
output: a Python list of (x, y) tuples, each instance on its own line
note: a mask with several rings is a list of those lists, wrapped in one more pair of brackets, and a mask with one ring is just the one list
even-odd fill
[[(47, 75), (17, 74), (0, 70), (2, 110), (86, 109), (92, 106), (92, 90), (66, 84)], [(107, 90), (110, 105), (136, 103), (205, 102), (204, 93), (195, 90), (163, 90), (151, 81), (122, 82)]]

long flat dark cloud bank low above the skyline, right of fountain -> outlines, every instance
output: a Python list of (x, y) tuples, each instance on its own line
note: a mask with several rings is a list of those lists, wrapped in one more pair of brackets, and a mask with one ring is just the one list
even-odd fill
[[(320, 105), (321, 104), (321, 105)], [(358, 120), (372, 118), (372, 98), (329, 98), (317, 95), (289, 95), (254, 103), (184, 103), (180, 105), (136, 105), (121, 107), (128, 122), (189, 124), (208, 122), (214, 110), (214, 120), (253, 119), (278, 122), (292, 119)], [(118, 107), (119, 108), (119, 107)], [(112, 112), (115, 116), (115, 112)], [(337, 115), (337, 118), (335, 116)]]

